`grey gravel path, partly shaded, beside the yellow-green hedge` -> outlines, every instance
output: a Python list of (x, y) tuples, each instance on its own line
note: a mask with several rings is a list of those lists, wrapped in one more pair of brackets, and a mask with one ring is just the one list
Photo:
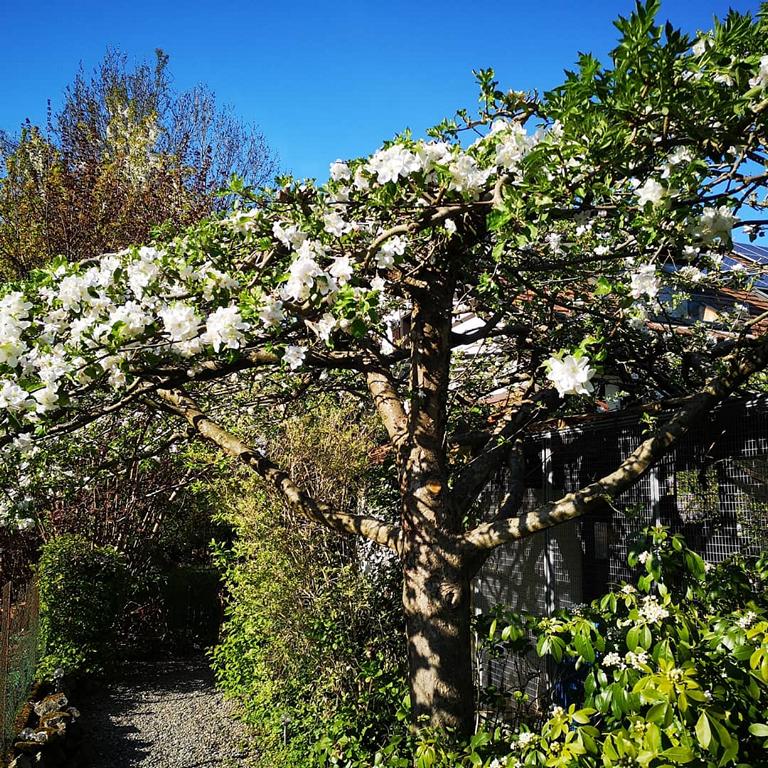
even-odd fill
[(242, 768), (247, 729), (204, 658), (134, 664), (73, 702), (82, 754), (71, 768)]

